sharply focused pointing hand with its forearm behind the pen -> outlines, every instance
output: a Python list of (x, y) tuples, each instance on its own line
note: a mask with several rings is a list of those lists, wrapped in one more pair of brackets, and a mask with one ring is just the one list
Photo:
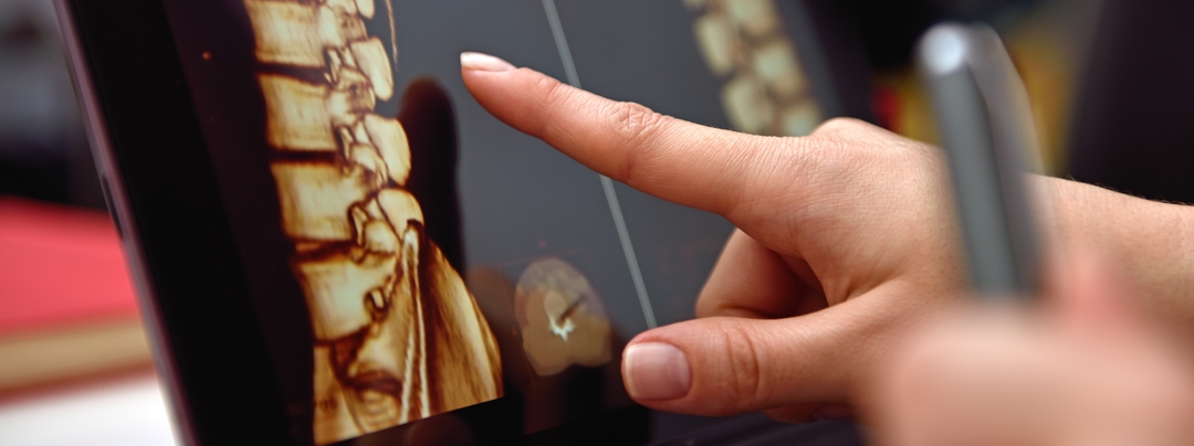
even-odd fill
[[(962, 301), (953, 198), (933, 145), (853, 119), (806, 137), (744, 135), (492, 56), (464, 54), (461, 63), (464, 85), (498, 119), (738, 228), (701, 291), (698, 318), (642, 333), (623, 353), (627, 390), (646, 407), (796, 421), (857, 403), (906, 333)], [(1141, 308), (1194, 327), (1189, 207), (1032, 182), (1059, 244), (1104, 247), (1145, 296)]]

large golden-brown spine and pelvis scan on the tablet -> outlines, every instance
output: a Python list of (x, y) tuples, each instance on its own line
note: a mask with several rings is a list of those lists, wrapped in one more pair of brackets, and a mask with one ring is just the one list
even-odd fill
[[(245, 0), (282, 230), (315, 336), (319, 444), (501, 396), (493, 333), (405, 187), (406, 132), (374, 112), (395, 94), (396, 57), (390, 8), (376, 6)], [(369, 21), (388, 25), (389, 50)]]

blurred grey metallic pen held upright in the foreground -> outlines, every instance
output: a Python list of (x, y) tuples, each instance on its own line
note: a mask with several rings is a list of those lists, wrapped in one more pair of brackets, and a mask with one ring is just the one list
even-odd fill
[(1041, 261), (1026, 173), (1039, 155), (1024, 86), (985, 25), (934, 26), (917, 60), (949, 159), (972, 291), (1030, 298)]

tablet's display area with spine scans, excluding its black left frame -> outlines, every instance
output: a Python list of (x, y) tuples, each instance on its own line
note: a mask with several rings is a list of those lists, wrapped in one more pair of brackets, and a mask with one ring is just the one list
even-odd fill
[(622, 348), (693, 317), (732, 225), (505, 126), (458, 55), (804, 135), (825, 105), (781, 6), (167, 0), (293, 434), (518, 436), (641, 410)]

